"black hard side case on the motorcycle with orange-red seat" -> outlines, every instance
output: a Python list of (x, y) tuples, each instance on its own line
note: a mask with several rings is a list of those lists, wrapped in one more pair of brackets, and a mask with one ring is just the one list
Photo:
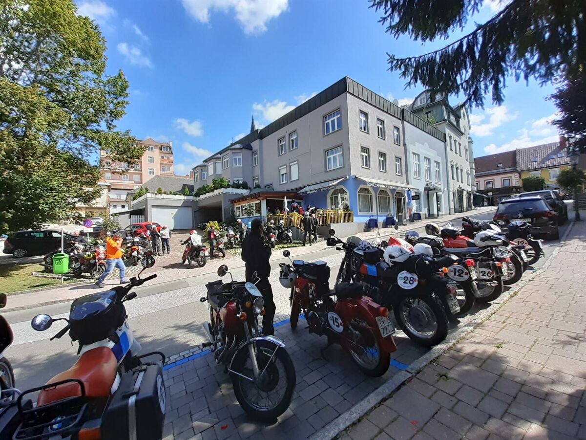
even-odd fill
[(165, 421), (165, 382), (159, 364), (143, 364), (124, 373), (104, 409), (101, 438), (158, 440)]

